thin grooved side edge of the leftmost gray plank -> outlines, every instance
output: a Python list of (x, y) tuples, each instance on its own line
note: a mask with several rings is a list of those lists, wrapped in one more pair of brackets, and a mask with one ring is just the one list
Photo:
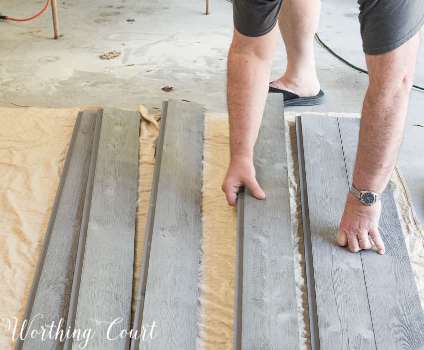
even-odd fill
[[(52, 206), (52, 209), (51, 209), (50, 219), (49, 219), (48, 224), (47, 224), (47, 229), (46, 229), (46, 233), (45, 233), (45, 236), (44, 236), (43, 245), (41, 247), (40, 256), (38, 258), (37, 267), (35, 269), (34, 279), (32, 281), (32, 286), (31, 286), (31, 289), (29, 291), (28, 302), (26, 304), (25, 313), (23, 314), (22, 324), (25, 320), (27, 320), (28, 316), (31, 314), (31, 311), (32, 311), (32, 307), (33, 307), (34, 300), (35, 300), (35, 294), (36, 294), (36, 291), (37, 291), (37, 288), (38, 288), (38, 284), (40, 282), (41, 272), (43, 270), (44, 261), (45, 261), (45, 257), (46, 257), (46, 254), (47, 254), (47, 248), (48, 248), (48, 245), (50, 243), (51, 232), (52, 232), (52, 229), (53, 229), (54, 221), (56, 220), (57, 208), (59, 206), (60, 198), (62, 196), (63, 186), (64, 186), (64, 183), (65, 183), (66, 176), (68, 174), (69, 163), (70, 163), (70, 160), (71, 160), (71, 157), (72, 157), (72, 153), (73, 153), (73, 149), (74, 149), (74, 145), (75, 145), (75, 140), (76, 140), (76, 137), (77, 137), (77, 134), (78, 134), (79, 126), (81, 124), (81, 118), (82, 118), (82, 112), (78, 112), (78, 115), (77, 115), (77, 118), (76, 118), (76, 121), (75, 121), (74, 130), (72, 132), (71, 141), (69, 143), (65, 163), (63, 165), (62, 174), (60, 175), (59, 185), (57, 186), (56, 197), (54, 198), (54, 203), (53, 203), (53, 206)], [(22, 329), (22, 324), (21, 324), (19, 330)], [(17, 340), (16, 340), (15, 350), (21, 350), (22, 346), (23, 346), (23, 341), (20, 339), (20, 337), (18, 337)]]

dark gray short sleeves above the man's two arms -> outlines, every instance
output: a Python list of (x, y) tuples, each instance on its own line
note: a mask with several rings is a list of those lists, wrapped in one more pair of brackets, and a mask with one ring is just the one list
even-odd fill
[[(282, 0), (233, 0), (234, 27), (246, 36), (270, 32)], [(362, 46), (369, 55), (392, 51), (424, 24), (424, 0), (358, 0)]]

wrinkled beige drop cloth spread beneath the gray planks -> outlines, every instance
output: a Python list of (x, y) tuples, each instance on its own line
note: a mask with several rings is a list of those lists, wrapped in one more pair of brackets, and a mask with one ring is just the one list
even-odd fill
[[(73, 109), (0, 108), (0, 319), (16, 317), (20, 324), (41, 250), (77, 112)], [(140, 180), (136, 222), (133, 295), (137, 295), (158, 129), (145, 109), (140, 136)], [(286, 113), (293, 136), (294, 115)], [(146, 120), (149, 119), (150, 121)], [(301, 349), (307, 349), (303, 241), (295, 142), (287, 138), (293, 248)], [(226, 114), (205, 115), (203, 237), (201, 261), (202, 349), (232, 349), (236, 211), (226, 205), (220, 184), (228, 157)], [(294, 158), (293, 158), (294, 157)], [(423, 230), (410, 205), (405, 183), (395, 174), (392, 185), (401, 213), (407, 247), (424, 306)], [(421, 229), (421, 231), (420, 231)], [(133, 313), (135, 311), (133, 298)], [(305, 320), (305, 321), (304, 321)], [(0, 328), (0, 349), (13, 349), (10, 332)]]

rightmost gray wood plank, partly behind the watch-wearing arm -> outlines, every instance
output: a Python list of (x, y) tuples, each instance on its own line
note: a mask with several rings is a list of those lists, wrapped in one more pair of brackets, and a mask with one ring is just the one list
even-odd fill
[[(338, 118), (349, 182), (353, 180), (359, 119)], [(377, 349), (424, 349), (424, 314), (390, 184), (382, 197), (379, 229), (386, 253), (360, 252)]]

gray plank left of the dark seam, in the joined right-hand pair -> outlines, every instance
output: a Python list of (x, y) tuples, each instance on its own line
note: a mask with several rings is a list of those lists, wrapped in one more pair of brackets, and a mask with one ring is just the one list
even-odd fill
[(360, 254), (336, 241), (347, 194), (337, 119), (301, 116), (320, 347), (376, 349)]

